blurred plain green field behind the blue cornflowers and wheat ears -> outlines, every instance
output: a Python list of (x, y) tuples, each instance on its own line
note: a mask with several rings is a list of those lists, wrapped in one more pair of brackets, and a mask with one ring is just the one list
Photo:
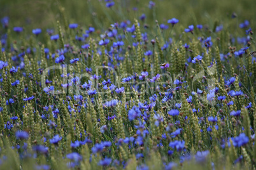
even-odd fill
[[(197, 23), (213, 24), (231, 20), (232, 13), (238, 16), (236, 22), (249, 20), (251, 27), (255, 25), (256, 1), (252, 0), (154, 0), (155, 8), (148, 8), (148, 0), (114, 0), (115, 6), (106, 8), (104, 0), (1, 0), (0, 16), (10, 17), (10, 27), (52, 28), (56, 20), (62, 20), (60, 8), (64, 7), (64, 14), (68, 23), (93, 25), (97, 29), (110, 27), (113, 22), (133, 20), (142, 13), (146, 15), (146, 23), (155, 20), (166, 23), (168, 19), (178, 18), (182, 25)], [(138, 10), (134, 11), (133, 8)], [(155, 14), (155, 15), (153, 15)], [(195, 23), (196, 22), (196, 23)]]

